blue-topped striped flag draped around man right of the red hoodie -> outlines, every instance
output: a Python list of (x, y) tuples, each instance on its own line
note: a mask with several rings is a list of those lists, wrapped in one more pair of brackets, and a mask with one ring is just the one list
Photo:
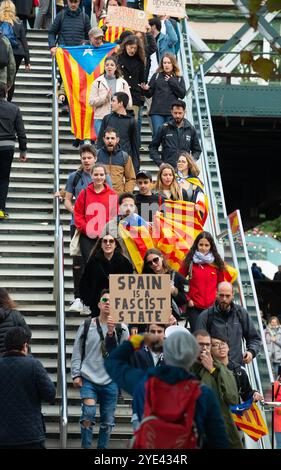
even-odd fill
[(140, 274), (146, 251), (154, 248), (150, 227), (142, 217), (132, 214), (120, 221), (118, 229), (136, 271)]

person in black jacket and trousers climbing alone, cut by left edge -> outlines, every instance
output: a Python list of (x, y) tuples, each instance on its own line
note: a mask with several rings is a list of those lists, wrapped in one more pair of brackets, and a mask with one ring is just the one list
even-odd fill
[(7, 87), (0, 83), (0, 220), (8, 219), (6, 200), (16, 135), (19, 141), (21, 162), (26, 162), (26, 134), (21, 112), (14, 103), (5, 100)]

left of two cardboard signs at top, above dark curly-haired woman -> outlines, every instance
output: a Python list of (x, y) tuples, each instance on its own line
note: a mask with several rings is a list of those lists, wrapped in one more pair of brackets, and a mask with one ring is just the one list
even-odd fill
[(146, 32), (148, 13), (127, 7), (109, 6), (107, 19), (110, 26), (123, 26), (126, 29)]

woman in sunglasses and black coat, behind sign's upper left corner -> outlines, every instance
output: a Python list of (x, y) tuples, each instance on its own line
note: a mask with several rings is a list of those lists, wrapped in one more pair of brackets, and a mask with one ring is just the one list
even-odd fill
[(98, 303), (103, 289), (109, 288), (110, 274), (132, 274), (133, 266), (122, 253), (119, 241), (109, 233), (95, 244), (80, 281), (80, 295), (92, 316), (99, 315)]

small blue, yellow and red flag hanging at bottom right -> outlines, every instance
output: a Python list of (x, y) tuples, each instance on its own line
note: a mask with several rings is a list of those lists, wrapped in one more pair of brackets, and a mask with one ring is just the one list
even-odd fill
[(256, 403), (253, 403), (252, 398), (241, 405), (230, 406), (230, 410), (235, 424), (254, 441), (268, 434), (260, 409)]

